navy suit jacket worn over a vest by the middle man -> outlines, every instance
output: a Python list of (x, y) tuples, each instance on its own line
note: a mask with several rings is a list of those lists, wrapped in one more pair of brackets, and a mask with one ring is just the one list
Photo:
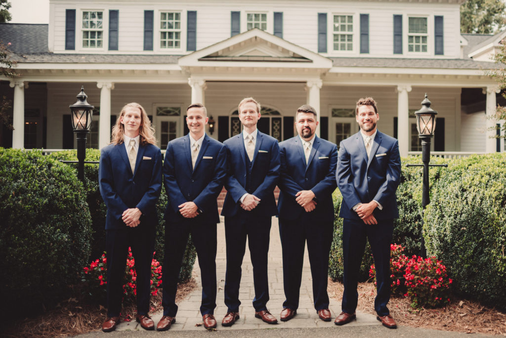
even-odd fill
[[(243, 134), (224, 142), (227, 149), (227, 196), (222, 215), (232, 217), (240, 208), (240, 198), (246, 191), (246, 149)], [(251, 194), (260, 198), (260, 204), (248, 212), (251, 216), (275, 216), (278, 213), (274, 188), (278, 183), (280, 159), (278, 141), (258, 131), (251, 170)]]

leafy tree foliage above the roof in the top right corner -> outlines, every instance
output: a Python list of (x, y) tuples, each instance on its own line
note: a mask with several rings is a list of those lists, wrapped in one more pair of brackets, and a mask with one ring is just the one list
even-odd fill
[(467, 0), (460, 5), (460, 32), (492, 34), (504, 28), (502, 0)]

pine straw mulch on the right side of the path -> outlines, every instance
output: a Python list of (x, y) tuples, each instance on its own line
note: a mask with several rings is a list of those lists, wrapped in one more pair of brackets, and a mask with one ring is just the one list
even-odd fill
[[(341, 301), (343, 289), (342, 283), (328, 280), (329, 297)], [(373, 308), (375, 296), (373, 283), (359, 283), (357, 310), (376, 315)], [(410, 304), (409, 298), (390, 299), (388, 307), (398, 325), (506, 336), (506, 314), (478, 302), (451, 297), (451, 303), (444, 308), (420, 310), (413, 310)]]

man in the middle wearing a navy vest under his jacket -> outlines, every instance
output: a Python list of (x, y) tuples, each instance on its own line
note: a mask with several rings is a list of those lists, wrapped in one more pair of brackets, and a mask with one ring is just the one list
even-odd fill
[(269, 280), (267, 260), (272, 216), (277, 215), (274, 188), (278, 182), (280, 159), (278, 141), (257, 129), (261, 106), (253, 98), (239, 103), (239, 119), (243, 131), (224, 142), (227, 149), (227, 196), (222, 215), (225, 216), (227, 272), (223, 326), (239, 319), (239, 284), (241, 264), (248, 239), (255, 298), (255, 317), (269, 324), (277, 319), (267, 309)]

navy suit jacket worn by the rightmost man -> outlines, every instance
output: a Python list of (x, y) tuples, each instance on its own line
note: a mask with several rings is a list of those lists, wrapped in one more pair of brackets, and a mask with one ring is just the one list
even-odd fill
[(381, 132), (376, 133), (369, 158), (360, 132), (341, 141), (336, 179), (343, 195), (339, 216), (360, 221), (353, 207), (377, 201), (383, 210), (374, 209), (376, 220), (399, 217), (395, 192), (400, 182), (399, 142)]

